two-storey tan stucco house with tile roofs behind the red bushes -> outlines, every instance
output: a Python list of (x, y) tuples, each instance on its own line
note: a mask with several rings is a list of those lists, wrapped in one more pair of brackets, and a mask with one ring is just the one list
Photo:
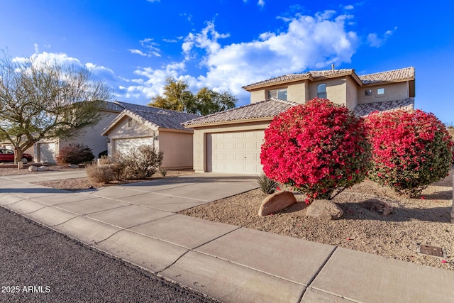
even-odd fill
[(187, 121), (194, 129), (194, 170), (258, 175), (264, 131), (277, 114), (326, 98), (358, 116), (414, 109), (414, 67), (358, 76), (355, 70), (284, 75), (243, 87), (250, 104)]

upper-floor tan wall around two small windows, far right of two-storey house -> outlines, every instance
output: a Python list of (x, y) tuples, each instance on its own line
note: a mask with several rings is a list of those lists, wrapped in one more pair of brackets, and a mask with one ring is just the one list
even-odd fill
[[(377, 96), (377, 89), (384, 87), (384, 95)], [(366, 89), (372, 89), (372, 96), (365, 97)], [(406, 99), (409, 97), (408, 82), (364, 86), (358, 89), (358, 104)]]

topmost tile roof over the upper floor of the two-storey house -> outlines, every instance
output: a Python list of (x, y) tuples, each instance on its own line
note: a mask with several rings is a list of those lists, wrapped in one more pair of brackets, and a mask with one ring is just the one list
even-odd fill
[(310, 72), (303, 72), (299, 74), (288, 74), (265, 81), (256, 82), (243, 87), (243, 89), (253, 89), (256, 87), (263, 87), (269, 84), (279, 84), (281, 82), (291, 82), (299, 79), (310, 79), (319, 77), (336, 77), (343, 75), (353, 75), (358, 77), (362, 84), (376, 83), (376, 82), (395, 82), (405, 79), (414, 79), (414, 67), (401, 68), (399, 70), (388, 70), (386, 72), (376, 72), (374, 74), (357, 76), (355, 70), (341, 69), (341, 70), (313, 70)]

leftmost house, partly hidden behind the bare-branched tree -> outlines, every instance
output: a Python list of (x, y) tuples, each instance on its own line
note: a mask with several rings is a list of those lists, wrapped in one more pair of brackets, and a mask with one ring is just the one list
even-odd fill
[(92, 148), (95, 158), (98, 158), (99, 153), (107, 150), (107, 138), (102, 137), (99, 133), (101, 133), (101, 131), (108, 126), (121, 111), (123, 111), (123, 107), (116, 102), (104, 102), (103, 117), (101, 121), (95, 126), (83, 128), (79, 136), (70, 139), (47, 139), (35, 143), (33, 153), (35, 155), (35, 162), (56, 163), (57, 155), (59, 155), (60, 150), (67, 145), (76, 143), (88, 145), (89, 148)]

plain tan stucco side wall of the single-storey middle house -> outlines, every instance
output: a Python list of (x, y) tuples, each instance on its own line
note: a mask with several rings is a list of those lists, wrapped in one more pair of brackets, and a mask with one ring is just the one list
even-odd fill
[(161, 167), (192, 168), (192, 133), (159, 131), (159, 150), (164, 153)]

